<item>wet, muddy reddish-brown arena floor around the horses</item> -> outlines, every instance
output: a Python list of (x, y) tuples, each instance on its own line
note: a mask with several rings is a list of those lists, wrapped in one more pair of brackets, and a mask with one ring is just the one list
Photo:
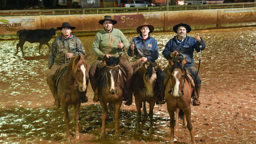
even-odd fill
[[(201, 105), (192, 107), (192, 124), (197, 143), (256, 143), (256, 27), (198, 30), (206, 42), (202, 52), (199, 74), (202, 79)], [(138, 34), (125, 34), (131, 41)], [(158, 41), (158, 63), (163, 68), (167, 61), (161, 55), (174, 32), (152, 33)], [(91, 51), (94, 37), (79, 37), (89, 54), (88, 63), (96, 56)], [(51, 39), (49, 43), (52, 43)], [(43, 45), (38, 54), (38, 43), (25, 43), (14, 56), (14, 40), (0, 41), (0, 143), (34, 144), (66, 143), (65, 124), (61, 109), (53, 107), (53, 97), (46, 83), (48, 47)], [(17, 42), (16, 42), (17, 43)], [(198, 66), (199, 54), (194, 53)], [(121, 138), (114, 139), (112, 116), (106, 121), (106, 138), (101, 139), (101, 107), (93, 103), (89, 84), (88, 103), (79, 112), (81, 138), (72, 143), (168, 143), (170, 122), (166, 104), (154, 108), (155, 133), (150, 134), (149, 118), (142, 117), (141, 134), (135, 135), (136, 106), (121, 107), (119, 126)], [(70, 114), (71, 116), (72, 114)], [(180, 121), (182, 122), (182, 121)], [(74, 132), (74, 123), (70, 123)], [(179, 125), (176, 143), (191, 143), (189, 131)]]

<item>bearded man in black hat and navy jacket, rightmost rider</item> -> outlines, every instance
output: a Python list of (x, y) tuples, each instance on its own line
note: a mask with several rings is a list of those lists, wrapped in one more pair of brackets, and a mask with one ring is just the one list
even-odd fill
[(177, 24), (173, 27), (173, 31), (177, 33), (177, 35), (175, 35), (174, 38), (168, 41), (162, 54), (167, 60), (172, 59), (175, 53), (181, 54), (183, 57), (186, 57), (187, 62), (185, 64), (185, 67), (195, 78), (196, 84), (195, 88), (197, 96), (195, 96), (192, 105), (200, 105), (198, 98), (201, 90), (201, 79), (199, 77), (199, 74), (196, 77), (197, 70), (193, 63), (193, 52), (194, 50), (200, 52), (200, 45), (202, 46), (201, 50), (204, 50), (206, 48), (204, 40), (199, 37), (199, 33), (197, 33), (196, 38), (186, 35), (191, 31), (191, 27), (185, 23)]

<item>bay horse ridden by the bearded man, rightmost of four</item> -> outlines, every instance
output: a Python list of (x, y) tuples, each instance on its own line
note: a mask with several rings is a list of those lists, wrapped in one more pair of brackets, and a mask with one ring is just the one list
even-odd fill
[[(165, 100), (167, 110), (170, 115), (171, 138), (169, 143), (174, 143), (174, 112), (181, 109), (185, 113), (187, 128), (190, 131), (191, 142), (196, 144), (193, 134), (193, 126), (191, 123), (191, 96), (193, 88), (187, 77), (185, 67), (186, 58), (176, 58), (176, 54), (172, 60), (169, 60), (169, 70), (167, 73), (168, 81), (165, 89)], [(177, 114), (177, 111), (176, 111)], [(178, 117), (176, 117), (176, 122)]]

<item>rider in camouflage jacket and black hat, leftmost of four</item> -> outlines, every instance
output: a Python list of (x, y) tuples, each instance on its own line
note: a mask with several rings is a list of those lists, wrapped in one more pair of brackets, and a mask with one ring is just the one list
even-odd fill
[[(55, 84), (53, 82), (55, 73), (60, 66), (68, 63), (72, 56), (84, 56), (85, 49), (82, 42), (71, 33), (75, 27), (71, 27), (68, 22), (64, 22), (62, 26), (57, 29), (61, 30), (62, 34), (55, 38), (50, 46), (48, 60), (50, 72), (47, 76), (47, 83), (55, 99), (54, 106), (59, 107), (60, 101), (57, 96), (55, 96)], [(83, 99), (82, 102), (84, 103), (86, 101)]]

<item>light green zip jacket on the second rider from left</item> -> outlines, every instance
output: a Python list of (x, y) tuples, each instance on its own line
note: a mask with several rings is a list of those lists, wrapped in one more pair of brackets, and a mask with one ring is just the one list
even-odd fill
[(101, 58), (103, 58), (104, 54), (118, 57), (123, 53), (122, 49), (118, 49), (117, 47), (119, 40), (124, 44), (124, 48), (129, 48), (129, 41), (119, 29), (112, 27), (112, 31), (108, 33), (104, 28), (104, 30), (95, 35), (92, 51)]

